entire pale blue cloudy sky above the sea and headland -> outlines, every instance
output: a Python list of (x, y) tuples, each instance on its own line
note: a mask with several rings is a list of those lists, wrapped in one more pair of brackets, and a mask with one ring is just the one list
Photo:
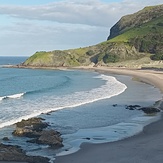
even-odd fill
[(162, 0), (0, 0), (0, 56), (95, 45), (122, 16), (158, 4)]

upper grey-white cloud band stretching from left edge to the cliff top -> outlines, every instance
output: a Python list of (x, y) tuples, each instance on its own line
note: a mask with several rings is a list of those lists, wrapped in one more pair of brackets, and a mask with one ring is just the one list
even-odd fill
[(111, 26), (122, 15), (143, 8), (145, 5), (161, 3), (156, 0), (124, 0), (119, 3), (104, 3), (97, 0), (61, 1), (37, 6), (0, 5), (0, 14), (11, 17), (35, 20), (48, 20), (59, 23), (86, 24), (91, 26)]

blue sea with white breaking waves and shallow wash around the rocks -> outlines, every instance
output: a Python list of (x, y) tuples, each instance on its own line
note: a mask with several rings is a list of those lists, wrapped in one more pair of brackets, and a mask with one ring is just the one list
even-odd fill
[[(150, 106), (161, 99), (160, 91), (151, 85), (91, 71), (3, 68), (25, 59), (0, 57), (0, 139), (9, 137), (9, 144), (20, 145), (30, 155), (54, 159), (77, 151), (83, 142), (132, 136), (158, 118), (126, 109), (126, 105)], [(12, 136), (14, 123), (35, 116), (61, 132), (63, 148), (54, 150)]]

